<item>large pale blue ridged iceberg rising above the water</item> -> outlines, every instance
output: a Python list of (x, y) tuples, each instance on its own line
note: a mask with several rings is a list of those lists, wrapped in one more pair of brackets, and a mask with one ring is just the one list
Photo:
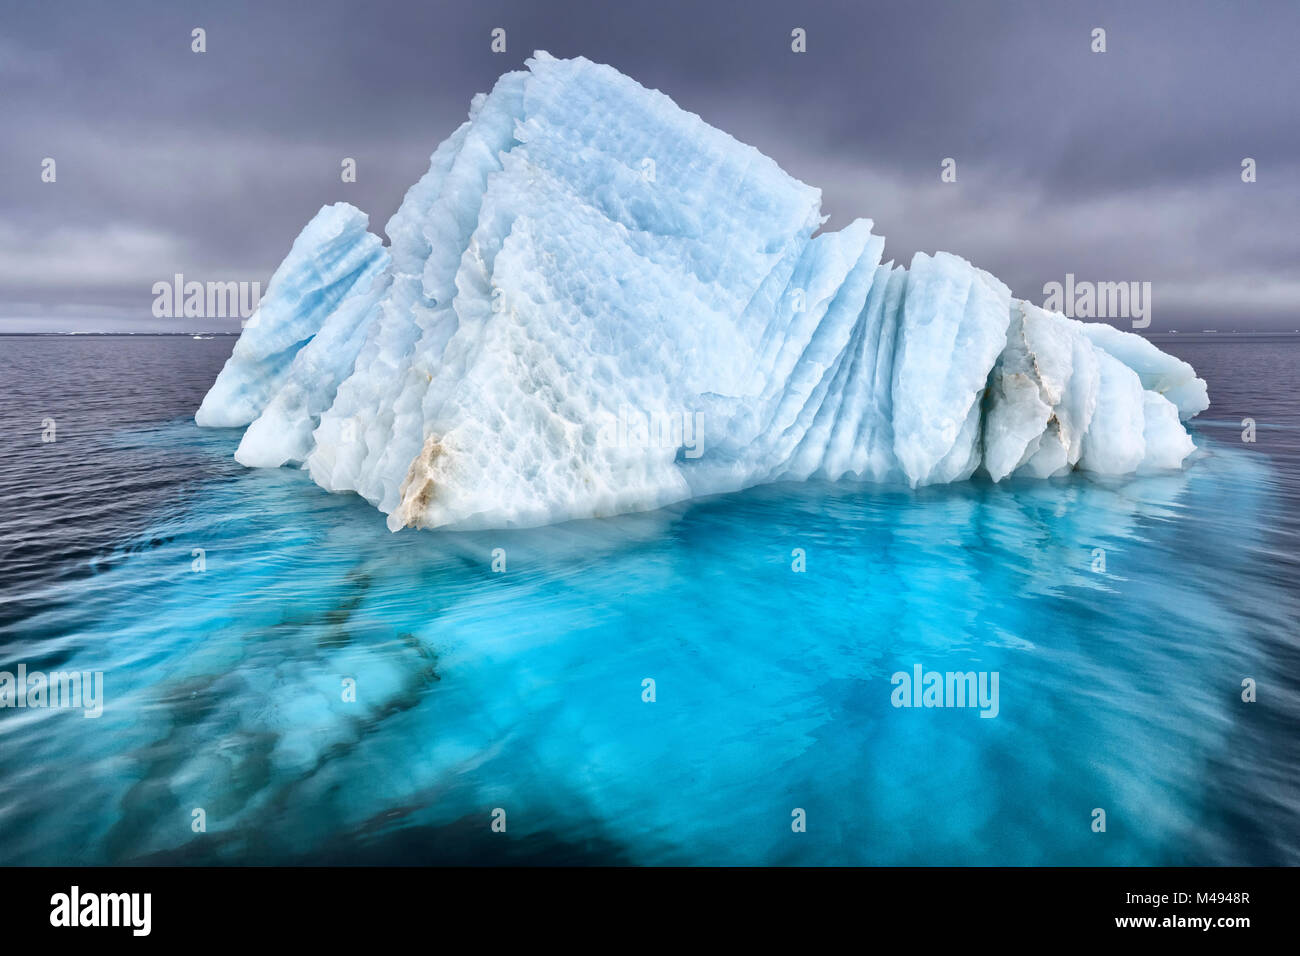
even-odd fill
[(393, 531), (1192, 453), (1187, 363), (824, 221), (819, 190), (662, 92), (538, 52), (474, 98), (387, 247), (346, 203), (317, 213), (195, 420)]

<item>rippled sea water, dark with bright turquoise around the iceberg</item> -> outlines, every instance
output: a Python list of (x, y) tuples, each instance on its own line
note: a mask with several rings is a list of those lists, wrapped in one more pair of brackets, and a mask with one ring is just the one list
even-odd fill
[(1161, 342), (1176, 475), (473, 535), (235, 464), (233, 343), (0, 337), (0, 670), (104, 675), (0, 710), (0, 862), (1300, 862), (1297, 338)]

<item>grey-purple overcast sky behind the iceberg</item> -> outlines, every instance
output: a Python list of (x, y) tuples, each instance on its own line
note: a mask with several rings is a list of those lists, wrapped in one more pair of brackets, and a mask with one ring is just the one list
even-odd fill
[(235, 328), (153, 319), (153, 284), (265, 287), (325, 203), (382, 229), (534, 49), (663, 90), (822, 187), (828, 229), (874, 219), (887, 259), (957, 252), (1034, 302), (1148, 281), (1150, 332), (1290, 330), (1297, 36), (1295, 0), (0, 0), (0, 332)]

